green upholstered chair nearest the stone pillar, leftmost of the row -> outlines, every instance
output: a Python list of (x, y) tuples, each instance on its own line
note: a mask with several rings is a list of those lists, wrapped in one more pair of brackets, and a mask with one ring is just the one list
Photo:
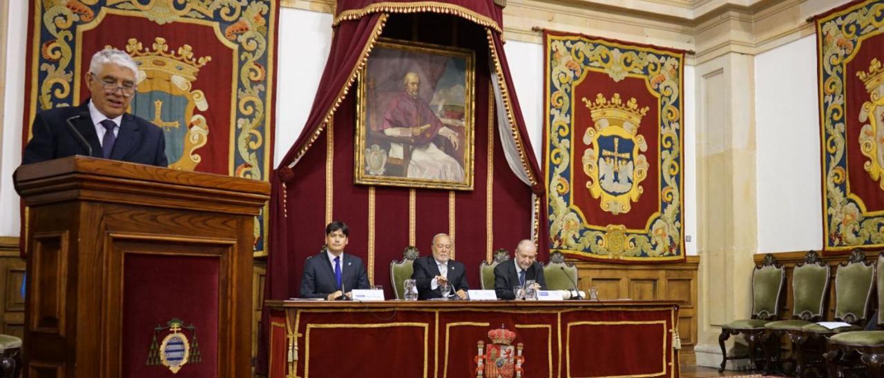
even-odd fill
[(731, 335), (743, 334), (749, 343), (749, 358), (754, 368), (758, 367), (759, 358), (764, 355), (761, 336), (765, 325), (776, 319), (780, 313), (782, 288), (786, 282), (786, 268), (776, 263), (773, 254), (767, 253), (765, 261), (752, 269), (752, 314), (750, 319), (731, 321), (721, 326), (719, 345), (721, 347), (721, 367), (724, 371), (728, 359), (744, 359), (747, 356), (730, 356), (725, 342)]

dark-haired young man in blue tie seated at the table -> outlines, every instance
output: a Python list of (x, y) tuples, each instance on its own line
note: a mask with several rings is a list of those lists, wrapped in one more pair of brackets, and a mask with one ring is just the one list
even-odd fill
[(301, 276), (301, 298), (338, 299), (352, 297), (351, 290), (369, 289), (369, 275), (362, 259), (344, 253), (347, 224), (334, 221), (325, 226), (326, 249), (307, 259)]

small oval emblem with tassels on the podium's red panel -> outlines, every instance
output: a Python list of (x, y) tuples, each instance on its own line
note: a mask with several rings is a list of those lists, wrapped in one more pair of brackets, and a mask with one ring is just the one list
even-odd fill
[[(185, 335), (185, 330), (190, 331), (193, 336), (193, 345)], [(164, 332), (170, 333), (163, 338), (162, 343), (157, 344), (156, 336)], [(168, 367), (172, 374), (177, 374), (187, 362), (201, 361), (200, 344), (196, 340), (196, 327), (193, 324), (185, 326), (184, 321), (174, 318), (167, 321), (165, 326), (161, 324), (154, 328), (154, 337), (148, 352), (148, 366), (163, 365)]]

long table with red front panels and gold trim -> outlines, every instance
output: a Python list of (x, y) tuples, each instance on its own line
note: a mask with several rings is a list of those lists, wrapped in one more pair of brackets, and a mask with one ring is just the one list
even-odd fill
[(270, 376), (476, 376), (501, 327), (525, 377), (677, 377), (678, 305), (666, 301), (268, 300)]

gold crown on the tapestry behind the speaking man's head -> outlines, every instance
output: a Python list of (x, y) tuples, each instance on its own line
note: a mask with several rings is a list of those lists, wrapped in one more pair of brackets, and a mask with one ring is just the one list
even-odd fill
[[(105, 47), (107, 49), (109, 47)], [(196, 79), (196, 73), (203, 65), (212, 60), (212, 57), (194, 57), (194, 48), (185, 44), (177, 51), (169, 51), (169, 45), (165, 38), (156, 37), (152, 49), (144, 49), (135, 38), (130, 38), (126, 44), (126, 52), (133, 58), (138, 68), (151, 78), (171, 78), (178, 75), (187, 81)]]

